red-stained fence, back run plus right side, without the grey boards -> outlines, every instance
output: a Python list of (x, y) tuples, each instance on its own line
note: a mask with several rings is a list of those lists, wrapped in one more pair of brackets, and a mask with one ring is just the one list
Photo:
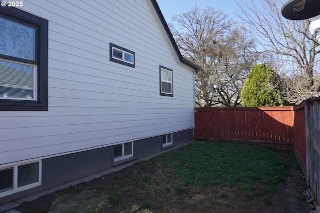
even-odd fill
[(295, 107), (194, 108), (194, 139), (259, 143), (294, 151), (306, 177), (304, 102)]

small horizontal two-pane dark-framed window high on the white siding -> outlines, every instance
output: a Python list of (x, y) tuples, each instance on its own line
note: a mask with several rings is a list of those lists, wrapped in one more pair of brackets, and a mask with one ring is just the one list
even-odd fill
[(126, 66), (133, 67), (135, 66), (134, 52), (110, 43), (110, 61), (120, 63)]

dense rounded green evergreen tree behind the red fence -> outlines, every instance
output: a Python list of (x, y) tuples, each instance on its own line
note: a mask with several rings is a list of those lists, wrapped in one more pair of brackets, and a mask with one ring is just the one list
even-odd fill
[(254, 65), (241, 90), (242, 106), (279, 106), (278, 75), (265, 64)]

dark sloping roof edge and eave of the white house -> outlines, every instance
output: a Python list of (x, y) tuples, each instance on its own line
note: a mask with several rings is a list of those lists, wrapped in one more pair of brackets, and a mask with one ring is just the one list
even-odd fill
[(160, 21), (161, 21), (161, 23), (162, 23), (162, 25), (163, 25), (163, 28), (164, 28), (167, 36), (169, 37), (169, 40), (170, 40), (170, 42), (171, 42), (171, 44), (172, 44), (172, 46), (173, 46), (173, 48), (174, 48), (174, 50), (175, 50), (175, 53), (176, 53), (177, 56), (178, 56), (180, 62), (186, 64), (187, 66), (189, 66), (189, 67), (191, 67), (192, 69), (194, 69), (195, 71), (197, 71), (197, 70), (199, 69), (199, 67), (196, 66), (195, 64), (193, 64), (192, 62), (188, 61), (187, 59), (185, 59), (185, 58), (182, 56), (182, 54), (181, 54), (178, 46), (177, 46), (176, 43), (175, 43), (175, 40), (174, 40), (174, 38), (173, 38), (173, 35), (172, 35), (172, 33), (171, 33), (171, 31), (170, 31), (170, 29), (169, 29), (169, 27), (168, 27), (168, 25), (167, 25), (167, 23), (166, 23), (163, 15), (162, 15), (162, 12), (161, 12), (160, 7), (159, 7), (158, 3), (156, 2), (156, 0), (151, 0), (151, 3), (152, 3), (152, 5), (153, 5), (153, 7), (154, 7), (154, 9), (155, 9), (155, 11), (156, 11), (156, 13), (157, 13), (157, 15), (159, 16), (159, 19), (160, 19)]

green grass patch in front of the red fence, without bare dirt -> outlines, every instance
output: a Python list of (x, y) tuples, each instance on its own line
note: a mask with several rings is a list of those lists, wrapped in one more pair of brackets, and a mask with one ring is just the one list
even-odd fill
[(175, 186), (177, 192), (187, 192), (194, 187), (205, 192), (222, 185), (252, 197), (271, 192), (285, 180), (288, 164), (281, 155), (294, 157), (292, 153), (277, 151), (276, 154), (274, 150), (246, 144), (191, 143), (158, 157), (165, 159), (162, 165), (156, 164), (157, 158), (149, 163), (154, 161), (159, 171), (171, 171), (160, 173), (159, 178), (168, 184), (168, 188)]

